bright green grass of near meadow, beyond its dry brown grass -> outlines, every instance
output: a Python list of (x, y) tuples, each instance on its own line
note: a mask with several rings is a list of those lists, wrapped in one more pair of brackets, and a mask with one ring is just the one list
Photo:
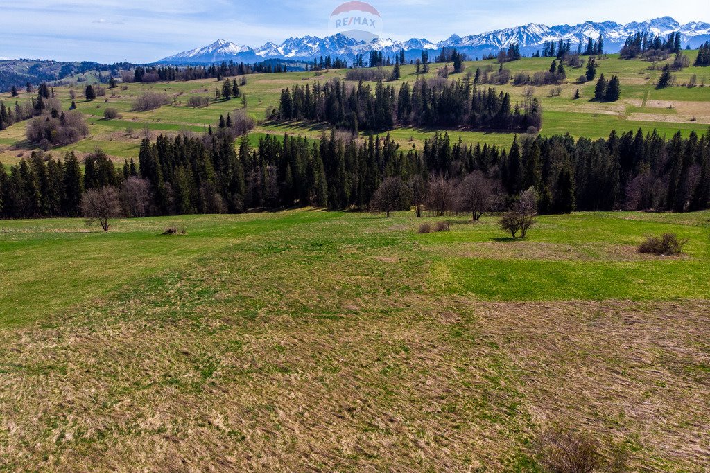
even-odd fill
[[(542, 301), (569, 299), (707, 299), (710, 288), (709, 240), (706, 213), (672, 214), (579, 213), (541, 217), (523, 245), (530, 257), (506, 256), (506, 235), (493, 219), (478, 226), (457, 225), (451, 233), (415, 235), (415, 221), (398, 214), (383, 221), (367, 214), (293, 211), (247, 216), (185, 216), (115, 221), (109, 233), (87, 231), (76, 219), (9, 221), (0, 223), (0, 324), (22, 324), (54, 313), (90, 296), (111, 291), (182, 267), (225, 247), (268, 245), (285, 238), (282, 246), (307, 249), (352, 245), (387, 255), (403, 253), (420, 261), (412, 277), (430, 281), (430, 290), (474, 294), (490, 301)], [(188, 235), (168, 238), (162, 233), (178, 222)], [(382, 233), (383, 226), (402, 229)], [(357, 237), (338, 238), (334, 230), (346, 228)], [(622, 261), (606, 250), (638, 245), (646, 235), (665, 231), (689, 238), (688, 260), (642, 260), (627, 255)], [(376, 233), (373, 233), (376, 232)], [(408, 250), (416, 243), (435, 247), (423, 255)], [(452, 248), (492, 245), (490, 254), (476, 257), (449, 255)], [(515, 243), (518, 245), (518, 243)], [(553, 245), (552, 260), (539, 260), (539, 245)], [(446, 247), (447, 251), (441, 251)], [(584, 257), (569, 259), (565, 252)], [(325, 261), (332, 255), (320, 255)], [(549, 253), (545, 257), (550, 257)], [(562, 258), (562, 260), (559, 260)], [(288, 264), (288, 261), (285, 261)]]

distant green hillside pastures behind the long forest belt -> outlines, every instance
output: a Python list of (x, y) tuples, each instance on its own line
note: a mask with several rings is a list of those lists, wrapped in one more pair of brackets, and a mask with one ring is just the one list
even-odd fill
[[(687, 51), (691, 60), (694, 60), (697, 51)], [(525, 58), (510, 62), (506, 68), (515, 74), (517, 72), (537, 72), (550, 67), (549, 58)], [(466, 62), (465, 72), (475, 72), (477, 67), (491, 65), (496, 69), (498, 65), (493, 60)], [(562, 94), (551, 97), (550, 89), (553, 86), (537, 87), (537, 96), (543, 105), (543, 130), (544, 135), (570, 133), (575, 137), (586, 136), (589, 138), (603, 138), (611, 130), (619, 132), (627, 130), (650, 131), (657, 128), (660, 133), (672, 135), (681, 130), (684, 135), (691, 130), (704, 132), (710, 127), (710, 68), (688, 67), (677, 72), (678, 87), (656, 90), (653, 87), (659, 70), (649, 69), (650, 62), (643, 60), (621, 60), (616, 55), (609, 55), (598, 61), (599, 74), (611, 77), (617, 74), (621, 79), (621, 101), (613, 104), (591, 102), (594, 96), (594, 82), (581, 86), (576, 84), (577, 77), (584, 74), (584, 68), (567, 68), (569, 79), (562, 84)], [(439, 65), (432, 65), (427, 77), (435, 77)], [(247, 96), (246, 111), (258, 121), (263, 121), (264, 112), (269, 107), (278, 106), (280, 91), (293, 84), (304, 82), (324, 82), (334, 77), (344, 79), (344, 69), (331, 70), (324, 73), (315, 72), (288, 72), (283, 74), (256, 74), (247, 76), (248, 84), (241, 90)], [(414, 66), (402, 68), (401, 82), (412, 82), (417, 79)], [(689, 89), (683, 87), (689, 82), (690, 77), (697, 77), (698, 87)], [(452, 74), (451, 79), (464, 78), (464, 74)], [(401, 82), (398, 82), (399, 85)], [(158, 133), (176, 133), (182, 130), (202, 132), (207, 126), (216, 126), (220, 115), (234, 112), (244, 108), (241, 99), (231, 101), (212, 101), (206, 108), (187, 107), (190, 96), (214, 97), (214, 90), (219, 87), (216, 80), (201, 80), (192, 82), (160, 82), (157, 84), (127, 84), (107, 95), (99, 97), (97, 101), (83, 101), (82, 93), (86, 82), (81, 82), (75, 87), (77, 108), (84, 113), (89, 121), (91, 135), (89, 138), (63, 148), (57, 148), (55, 153), (62, 155), (65, 151), (75, 150), (84, 155), (100, 147), (116, 161), (122, 162), (126, 158), (136, 157), (138, 146), (143, 136), (143, 128), (151, 130), (153, 137)], [(707, 84), (709, 87), (700, 87)], [(579, 87), (580, 100), (573, 100), (574, 91)], [(508, 84), (498, 89), (510, 92), (513, 100), (523, 98), (525, 87), (515, 87)], [(134, 112), (131, 104), (136, 97), (146, 91), (155, 91), (169, 94), (173, 103), (163, 106), (155, 111)], [(71, 104), (70, 86), (57, 87), (57, 96), (62, 101), (62, 106), (67, 109)], [(0, 100), (13, 105), (15, 101), (26, 101), (35, 94), (21, 93), (18, 98), (9, 94), (0, 94)], [(104, 108), (116, 108), (122, 114), (120, 120), (104, 120)], [(13, 164), (28, 155), (33, 149), (32, 143), (25, 140), (26, 123), (17, 123), (7, 130), (0, 132), (0, 162), (6, 165)], [(133, 128), (136, 133), (129, 136), (126, 128)], [(301, 124), (278, 125), (262, 123), (257, 127), (258, 133), (293, 133), (317, 138), (322, 128), (302, 126)], [(435, 130), (405, 128), (394, 130), (392, 135), (402, 145), (421, 147), (423, 140), (435, 133)], [(496, 145), (510, 145), (513, 135), (510, 133), (481, 133), (461, 130), (449, 130), (454, 140), (459, 137), (466, 143), (491, 143)], [(255, 138), (256, 139), (256, 138)]]

